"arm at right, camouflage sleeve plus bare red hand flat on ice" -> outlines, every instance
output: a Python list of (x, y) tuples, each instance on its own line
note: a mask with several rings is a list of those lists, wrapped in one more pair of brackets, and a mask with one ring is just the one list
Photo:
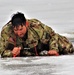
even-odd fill
[(51, 27), (46, 26), (47, 32), (50, 35), (49, 39), (49, 55), (59, 55), (58, 36)]

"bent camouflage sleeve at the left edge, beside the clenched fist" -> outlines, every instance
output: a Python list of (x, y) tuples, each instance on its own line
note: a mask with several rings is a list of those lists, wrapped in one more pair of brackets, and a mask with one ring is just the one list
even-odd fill
[[(6, 28), (2, 29), (1, 31), (1, 38), (0, 38), (0, 53), (1, 53), (1, 57), (12, 57), (12, 52), (11, 52), (11, 46), (14, 46), (13, 42), (10, 41), (9, 42), (9, 34), (8, 34), (8, 30)], [(10, 48), (9, 48), (9, 47)]]

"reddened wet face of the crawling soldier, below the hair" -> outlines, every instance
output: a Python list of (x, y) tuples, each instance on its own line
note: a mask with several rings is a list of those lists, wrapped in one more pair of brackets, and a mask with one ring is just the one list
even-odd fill
[(22, 38), (25, 35), (27, 28), (25, 25), (19, 25), (18, 27), (14, 27), (13, 30), (17, 36)]

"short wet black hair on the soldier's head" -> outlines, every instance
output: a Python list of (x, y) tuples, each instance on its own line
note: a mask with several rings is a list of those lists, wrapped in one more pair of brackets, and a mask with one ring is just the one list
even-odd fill
[(22, 24), (26, 24), (26, 18), (23, 13), (17, 12), (12, 16), (11, 22), (13, 27), (19, 26)]

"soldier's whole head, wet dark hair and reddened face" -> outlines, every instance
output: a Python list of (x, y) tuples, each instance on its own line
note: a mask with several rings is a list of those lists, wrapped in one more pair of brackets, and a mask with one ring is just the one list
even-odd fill
[(26, 18), (24, 14), (17, 12), (12, 16), (11, 22), (14, 33), (19, 37), (23, 37), (27, 31)]

